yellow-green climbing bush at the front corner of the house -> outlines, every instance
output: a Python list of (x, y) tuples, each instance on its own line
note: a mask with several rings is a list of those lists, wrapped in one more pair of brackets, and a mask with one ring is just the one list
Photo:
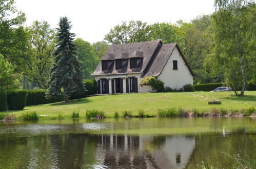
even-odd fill
[(164, 92), (164, 82), (161, 80), (158, 80), (156, 77), (149, 76), (149, 77), (143, 77), (140, 85), (149, 85), (152, 87), (153, 90), (156, 90), (156, 92)]

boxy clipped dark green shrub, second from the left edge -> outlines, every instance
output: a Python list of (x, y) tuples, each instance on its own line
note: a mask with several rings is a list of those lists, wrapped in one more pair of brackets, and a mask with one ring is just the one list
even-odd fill
[(7, 92), (9, 110), (23, 110), (26, 106), (26, 90), (12, 90)]

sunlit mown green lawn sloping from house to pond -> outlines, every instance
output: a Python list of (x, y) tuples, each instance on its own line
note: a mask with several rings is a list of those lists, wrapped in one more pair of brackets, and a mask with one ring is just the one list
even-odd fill
[[(222, 104), (208, 105), (209, 100), (221, 100)], [(115, 111), (122, 113), (125, 110), (134, 114), (143, 110), (145, 114), (154, 115), (157, 109), (171, 107), (210, 111), (213, 108), (241, 110), (251, 105), (256, 105), (256, 91), (246, 91), (242, 97), (235, 96), (233, 92), (133, 93), (87, 97), (71, 103), (32, 105), (22, 111), (9, 112), (16, 115), (27, 111), (36, 111), (40, 115), (70, 115), (73, 111), (84, 114), (87, 109), (96, 109), (108, 116), (113, 116)]]

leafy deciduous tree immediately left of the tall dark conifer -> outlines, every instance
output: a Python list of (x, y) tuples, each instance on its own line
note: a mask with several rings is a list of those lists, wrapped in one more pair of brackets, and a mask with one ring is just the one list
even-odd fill
[(30, 38), (29, 58), (23, 67), (23, 74), (27, 79), (36, 82), (40, 89), (47, 89), (47, 79), (49, 78), (52, 66), (54, 50), (54, 30), (46, 21), (33, 22), (27, 28)]

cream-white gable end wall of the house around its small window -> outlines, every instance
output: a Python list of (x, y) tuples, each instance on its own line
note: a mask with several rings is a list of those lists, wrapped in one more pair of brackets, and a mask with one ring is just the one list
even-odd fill
[[(178, 61), (178, 70), (173, 70), (172, 60)], [(193, 85), (193, 76), (190, 74), (185, 61), (180, 56), (180, 52), (176, 47), (158, 79), (163, 81), (165, 86), (172, 89), (180, 89), (188, 83)]]

